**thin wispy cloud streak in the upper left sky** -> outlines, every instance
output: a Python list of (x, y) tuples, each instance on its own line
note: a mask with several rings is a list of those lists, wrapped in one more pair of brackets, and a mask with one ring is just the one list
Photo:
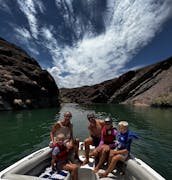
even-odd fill
[(14, 31), (16, 32), (15, 36), (19, 40), (20, 44), (24, 44), (31, 54), (34, 56), (39, 55), (37, 50), (37, 45), (39, 44), (39, 34), (40, 34), (40, 25), (39, 19), (37, 18), (39, 13), (44, 13), (45, 7), (42, 1), (34, 0), (17, 0), (19, 9), (25, 15), (25, 18), (28, 21), (29, 28), (13, 25)]

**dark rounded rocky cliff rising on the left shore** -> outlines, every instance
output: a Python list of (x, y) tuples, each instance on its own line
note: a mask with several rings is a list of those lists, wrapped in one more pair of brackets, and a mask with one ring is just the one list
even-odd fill
[(52, 76), (25, 51), (0, 38), (0, 110), (58, 106)]

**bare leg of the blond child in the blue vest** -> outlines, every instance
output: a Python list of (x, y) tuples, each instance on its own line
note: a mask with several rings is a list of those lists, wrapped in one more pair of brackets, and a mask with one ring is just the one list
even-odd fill
[(123, 160), (123, 156), (120, 154), (117, 154), (115, 156), (113, 156), (113, 158), (111, 159), (111, 162), (108, 166), (108, 168), (105, 170), (104, 173), (98, 173), (98, 175), (100, 177), (106, 177), (110, 172), (112, 172), (114, 170), (114, 168), (116, 167), (116, 163), (120, 160)]

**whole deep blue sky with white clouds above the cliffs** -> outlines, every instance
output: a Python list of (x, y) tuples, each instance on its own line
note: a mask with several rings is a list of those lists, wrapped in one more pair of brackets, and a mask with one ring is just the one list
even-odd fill
[(93, 85), (172, 56), (172, 0), (0, 0), (0, 37), (59, 88)]

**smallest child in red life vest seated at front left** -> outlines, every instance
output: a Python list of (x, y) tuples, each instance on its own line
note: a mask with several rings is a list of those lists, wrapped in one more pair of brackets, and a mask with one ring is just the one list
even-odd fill
[(78, 180), (78, 166), (72, 164), (68, 160), (68, 150), (65, 143), (64, 134), (58, 134), (56, 136), (56, 142), (54, 142), (54, 148), (52, 150), (51, 167), (52, 170), (66, 170), (71, 173), (72, 180)]

